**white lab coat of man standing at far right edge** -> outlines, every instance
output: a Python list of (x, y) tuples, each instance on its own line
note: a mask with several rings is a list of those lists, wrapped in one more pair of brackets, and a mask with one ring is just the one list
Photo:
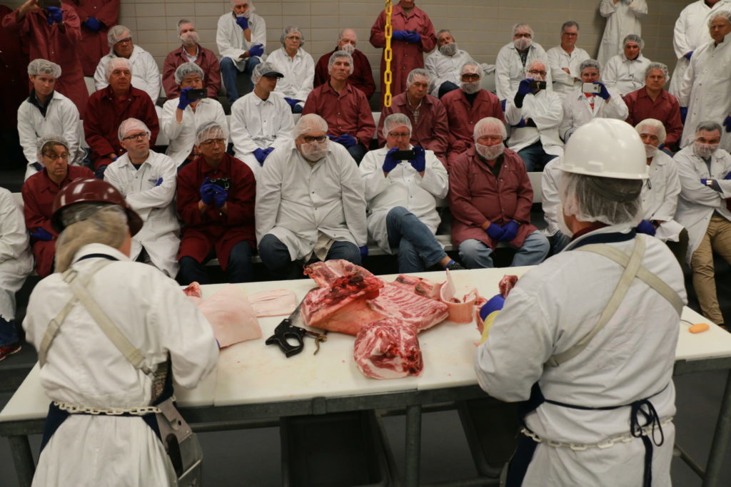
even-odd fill
[[(683, 77), (678, 103), (688, 107), (681, 147), (695, 140), (698, 123), (723, 123), (731, 114), (731, 35), (715, 45), (713, 41), (695, 51)], [(731, 135), (721, 130), (721, 149), (731, 150)]]

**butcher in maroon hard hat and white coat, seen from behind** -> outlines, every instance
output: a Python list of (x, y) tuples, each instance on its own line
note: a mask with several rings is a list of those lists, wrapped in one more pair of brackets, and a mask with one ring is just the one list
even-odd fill
[[(166, 371), (193, 388), (216, 367), (211, 325), (174, 280), (130, 261), (131, 236), (142, 221), (112, 185), (77, 180), (58, 196), (58, 272), (36, 285), (23, 321), (27, 339), (40, 350), (41, 386), (53, 401), (33, 486), (177, 486), (152, 427), (155, 414), (132, 411), (173, 394), (160, 387)], [(73, 303), (74, 281), (140, 354), (140, 363), (133, 365), (107, 337), (99, 324), (104, 320)], [(64, 319), (59, 312), (67, 304)], [(60, 332), (42, 345), (53, 335), (54, 319)], [(126, 414), (113, 415), (113, 409)]]

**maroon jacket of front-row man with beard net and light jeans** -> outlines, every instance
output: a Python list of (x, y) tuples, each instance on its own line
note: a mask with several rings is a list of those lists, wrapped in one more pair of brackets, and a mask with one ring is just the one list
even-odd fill
[(526, 237), (536, 231), (536, 227), (531, 225), (533, 188), (523, 159), (518, 153), (505, 149), (498, 161), (502, 167), (498, 177), (495, 177), (488, 164), (471, 147), (450, 168), (454, 245), (459, 246), (467, 239), (476, 239), (494, 250), (498, 242), (482, 230), (485, 221), (498, 225), (511, 220), (520, 223), (518, 235), (510, 242), (516, 247), (521, 247)]

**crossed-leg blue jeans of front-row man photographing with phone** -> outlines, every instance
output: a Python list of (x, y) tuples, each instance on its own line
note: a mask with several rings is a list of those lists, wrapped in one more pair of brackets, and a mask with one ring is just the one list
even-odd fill
[(404, 207), (389, 210), (386, 231), (388, 245), (398, 248), (398, 272), (423, 272), (447, 256), (428, 226)]

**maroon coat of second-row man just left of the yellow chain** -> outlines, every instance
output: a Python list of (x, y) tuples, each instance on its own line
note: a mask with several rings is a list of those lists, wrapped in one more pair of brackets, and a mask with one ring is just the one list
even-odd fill
[(345, 85), (342, 93), (330, 86), (330, 82), (310, 92), (305, 101), (302, 115), (317, 113), (327, 122), (327, 134), (338, 137), (349, 134), (360, 139), (360, 143), (371, 143), (376, 133), (376, 122), (363, 91)]

